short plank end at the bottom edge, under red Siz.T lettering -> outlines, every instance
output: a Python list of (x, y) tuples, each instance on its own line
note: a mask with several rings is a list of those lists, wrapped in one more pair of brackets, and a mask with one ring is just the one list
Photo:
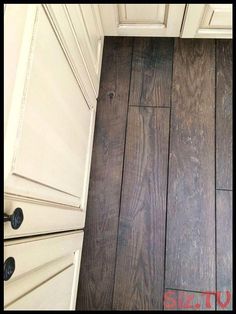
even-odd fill
[(206, 292), (165, 290), (164, 310), (215, 310), (215, 295)]

